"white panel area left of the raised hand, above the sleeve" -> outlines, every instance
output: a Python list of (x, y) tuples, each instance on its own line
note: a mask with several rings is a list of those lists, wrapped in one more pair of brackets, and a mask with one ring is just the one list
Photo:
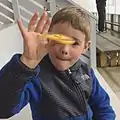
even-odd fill
[(22, 52), (22, 37), (17, 25), (11, 25), (0, 31), (0, 68), (11, 58), (14, 53)]

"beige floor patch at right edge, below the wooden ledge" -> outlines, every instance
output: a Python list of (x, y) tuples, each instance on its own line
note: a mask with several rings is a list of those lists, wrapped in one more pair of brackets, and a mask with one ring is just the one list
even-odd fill
[(120, 67), (98, 68), (98, 70), (120, 99)]

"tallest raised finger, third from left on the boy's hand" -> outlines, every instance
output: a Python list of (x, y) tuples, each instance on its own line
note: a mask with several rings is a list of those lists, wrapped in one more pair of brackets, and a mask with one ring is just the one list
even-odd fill
[(46, 21), (47, 21), (47, 12), (44, 11), (43, 15), (41, 16), (40, 20), (38, 21), (38, 24), (37, 24), (37, 27), (35, 29), (35, 32), (41, 33), (42, 29), (43, 29), (43, 27), (44, 27), (44, 25), (46, 23)]

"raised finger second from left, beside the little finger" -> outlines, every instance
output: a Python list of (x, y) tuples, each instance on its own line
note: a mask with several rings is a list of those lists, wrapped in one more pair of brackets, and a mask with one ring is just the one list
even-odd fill
[(31, 20), (30, 20), (30, 22), (28, 24), (28, 31), (34, 31), (35, 24), (37, 22), (38, 16), (39, 16), (38, 12), (34, 13), (34, 15), (32, 16), (32, 18), (31, 18)]

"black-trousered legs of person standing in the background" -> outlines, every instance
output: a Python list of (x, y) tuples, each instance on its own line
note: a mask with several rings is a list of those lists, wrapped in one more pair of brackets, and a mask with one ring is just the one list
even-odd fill
[(106, 32), (105, 20), (106, 20), (106, 0), (96, 0), (96, 7), (98, 11), (98, 31)]

